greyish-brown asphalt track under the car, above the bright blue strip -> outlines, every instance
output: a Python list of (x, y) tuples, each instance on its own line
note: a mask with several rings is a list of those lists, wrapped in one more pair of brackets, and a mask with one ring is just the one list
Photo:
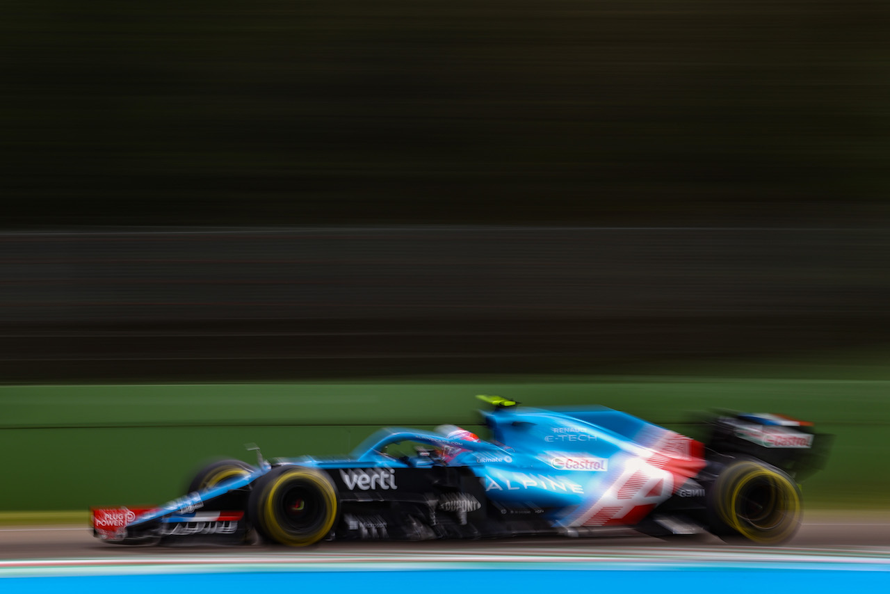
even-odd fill
[(4, 526), (0, 528), (0, 563), (24, 559), (93, 559), (98, 561), (170, 561), (196, 555), (228, 562), (263, 563), (274, 558), (297, 563), (401, 563), (406, 561), (498, 561), (558, 558), (578, 562), (597, 559), (653, 558), (695, 561), (708, 558), (786, 558), (826, 554), (890, 558), (890, 517), (881, 514), (809, 517), (797, 536), (781, 547), (726, 544), (710, 534), (664, 541), (638, 533), (612, 531), (595, 538), (516, 538), (486, 541), (322, 542), (303, 549), (270, 545), (125, 547), (93, 538), (85, 526)]

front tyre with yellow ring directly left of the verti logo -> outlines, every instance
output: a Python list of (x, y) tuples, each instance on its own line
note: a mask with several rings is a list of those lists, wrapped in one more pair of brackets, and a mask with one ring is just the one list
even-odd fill
[(260, 477), (247, 503), (256, 531), (267, 541), (305, 547), (336, 523), (339, 501), (327, 475), (314, 468), (282, 466)]

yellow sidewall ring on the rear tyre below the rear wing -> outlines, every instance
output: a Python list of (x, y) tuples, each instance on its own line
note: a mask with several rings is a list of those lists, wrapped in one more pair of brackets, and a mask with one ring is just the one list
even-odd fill
[[(719, 510), (724, 522), (745, 538), (755, 542), (782, 541), (790, 536), (796, 530), (800, 517), (800, 495), (797, 493), (797, 487), (786, 476), (755, 463), (739, 465), (732, 470), (733, 476), (730, 477), (732, 492), (728, 500), (721, 501), (723, 505), (721, 505)], [(786, 517), (792, 518), (792, 521), (787, 522), (777, 533), (761, 533), (755, 528), (743, 525), (735, 513), (742, 489), (758, 478), (766, 478), (773, 484), (771, 495), (773, 496), (774, 507), (781, 507)], [(782, 525), (781, 521), (779, 525)]]

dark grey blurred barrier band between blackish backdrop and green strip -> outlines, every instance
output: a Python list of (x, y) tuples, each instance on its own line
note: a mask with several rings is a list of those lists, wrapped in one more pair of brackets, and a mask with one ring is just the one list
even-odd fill
[(877, 229), (5, 232), (0, 381), (601, 374), (888, 344), (888, 254)]

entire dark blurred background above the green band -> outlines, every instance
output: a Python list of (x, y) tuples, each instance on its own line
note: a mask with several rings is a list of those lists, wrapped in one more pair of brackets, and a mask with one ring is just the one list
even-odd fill
[(890, 4), (7, 1), (0, 377), (890, 343)]

